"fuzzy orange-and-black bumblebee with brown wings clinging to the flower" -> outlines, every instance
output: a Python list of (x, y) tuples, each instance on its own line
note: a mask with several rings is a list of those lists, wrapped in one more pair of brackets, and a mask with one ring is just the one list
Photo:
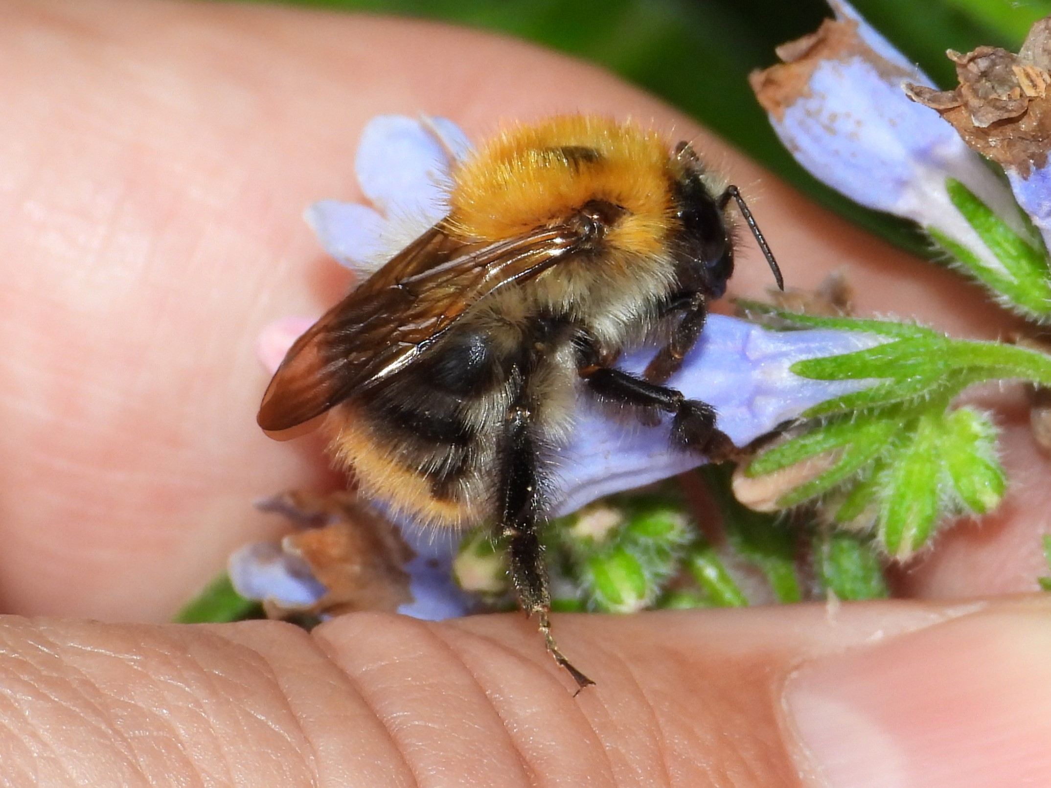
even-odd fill
[[(634, 123), (512, 127), (450, 178), (448, 214), (298, 338), (257, 420), (285, 437), (327, 414), (365, 496), (420, 523), (494, 522), (521, 606), (584, 687), (551, 635), (538, 539), (575, 403), (667, 416), (673, 445), (726, 456), (715, 410), (664, 383), (734, 271), (731, 200), (781, 274), (737, 187)], [(642, 376), (614, 366), (647, 343)]]

